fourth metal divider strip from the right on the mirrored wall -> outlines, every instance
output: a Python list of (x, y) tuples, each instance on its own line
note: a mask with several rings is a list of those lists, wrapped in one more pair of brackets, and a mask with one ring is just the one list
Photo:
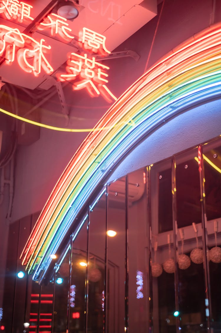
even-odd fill
[(125, 179), (125, 326), (128, 332), (128, 175)]

